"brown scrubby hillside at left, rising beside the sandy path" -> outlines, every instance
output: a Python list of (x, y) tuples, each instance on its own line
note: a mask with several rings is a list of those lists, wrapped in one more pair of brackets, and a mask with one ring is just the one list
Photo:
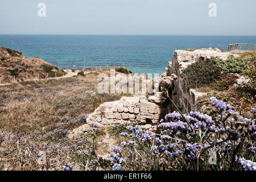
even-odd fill
[(15, 80), (20, 82), (27, 79), (45, 78), (47, 76), (63, 76), (63, 71), (55, 65), (39, 57), (27, 58), (22, 52), (10, 48), (0, 47), (0, 80), (1, 84)]

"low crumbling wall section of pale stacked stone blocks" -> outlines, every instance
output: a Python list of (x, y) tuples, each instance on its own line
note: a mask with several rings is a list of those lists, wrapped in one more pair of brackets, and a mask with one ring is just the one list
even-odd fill
[(116, 125), (137, 121), (140, 123), (158, 122), (164, 117), (165, 111), (160, 106), (160, 100), (154, 96), (122, 97), (119, 101), (105, 102), (92, 114), (87, 122), (97, 122), (100, 125)]

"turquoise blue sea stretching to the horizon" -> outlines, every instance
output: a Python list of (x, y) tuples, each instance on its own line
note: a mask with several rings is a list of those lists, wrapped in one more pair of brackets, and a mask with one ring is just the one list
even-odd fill
[(125, 66), (137, 73), (163, 73), (175, 49), (228, 49), (256, 43), (256, 36), (0, 35), (0, 46), (40, 57), (59, 68)]

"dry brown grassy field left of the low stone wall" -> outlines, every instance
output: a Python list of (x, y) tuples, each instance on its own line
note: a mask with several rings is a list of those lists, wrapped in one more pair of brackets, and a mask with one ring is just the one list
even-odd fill
[[(74, 154), (85, 147), (84, 138), (69, 140), (68, 131), (84, 124), (86, 115), (103, 102), (122, 96), (98, 94), (97, 75), (1, 86), (0, 170), (63, 169), (65, 164), (80, 169)], [(102, 135), (100, 153), (109, 147), (104, 140), (111, 137), (111, 133)], [(38, 164), (42, 151), (46, 165)]]

